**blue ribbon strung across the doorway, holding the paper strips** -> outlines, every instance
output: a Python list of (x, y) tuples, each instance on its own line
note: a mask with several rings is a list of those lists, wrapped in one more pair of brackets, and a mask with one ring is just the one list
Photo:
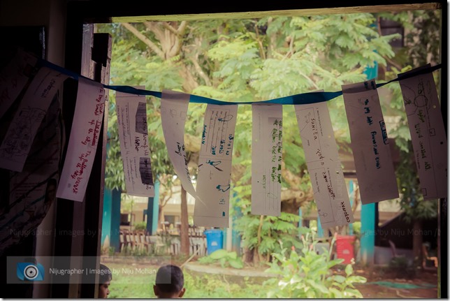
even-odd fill
[[(45, 66), (48, 68), (52, 68), (55, 71), (58, 71), (60, 73), (70, 76), (74, 80), (78, 80), (80, 78), (85, 78), (86, 80), (92, 80), (92, 79), (86, 78), (85, 76), (82, 76), (78, 73), (69, 71), (66, 68), (52, 64), (52, 63), (50, 63), (50, 61), (45, 61), (44, 59), (39, 59), (38, 66)], [(390, 80), (389, 82), (383, 82), (381, 84), (377, 84), (377, 88), (382, 87), (387, 84), (390, 84), (391, 82), (396, 82), (399, 80), (405, 80), (407, 78), (412, 78), (416, 75), (432, 73), (433, 71), (436, 71), (440, 68), (441, 68), (441, 64), (437, 64), (435, 66), (430, 66), (430, 67), (426, 67), (426, 68), (419, 68), (418, 70), (404, 73), (402, 75), (398, 75), (397, 78)], [(103, 87), (105, 87), (106, 89), (111, 89), (111, 90), (128, 93), (128, 94), (150, 95), (150, 96), (155, 96), (158, 98), (161, 98), (161, 96), (162, 96), (162, 93), (159, 91), (136, 89), (136, 88), (130, 87), (130, 86), (117, 86), (117, 85), (104, 85), (103, 84)], [(248, 104), (252, 104), (252, 103), (277, 103), (280, 105), (305, 105), (305, 104), (311, 104), (311, 103), (321, 103), (324, 101), (331, 101), (331, 99), (336, 98), (337, 96), (341, 96), (341, 95), (342, 95), (342, 91), (307, 92), (307, 93), (302, 93), (302, 94), (285, 96), (285, 97), (281, 97), (281, 98), (275, 98), (275, 99), (271, 99), (268, 101), (244, 102), (244, 101), (217, 101), (216, 99), (191, 94), (191, 96), (189, 98), (189, 102), (190, 103), (208, 103), (208, 104), (212, 104), (212, 105), (236, 105), (236, 104), (247, 104), (248, 105)]]

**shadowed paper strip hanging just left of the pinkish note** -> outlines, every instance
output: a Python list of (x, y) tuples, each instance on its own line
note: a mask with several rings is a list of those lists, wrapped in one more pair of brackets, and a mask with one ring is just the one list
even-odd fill
[(39, 125), (66, 78), (50, 68), (43, 67), (38, 71), (1, 143), (0, 168), (22, 172)]

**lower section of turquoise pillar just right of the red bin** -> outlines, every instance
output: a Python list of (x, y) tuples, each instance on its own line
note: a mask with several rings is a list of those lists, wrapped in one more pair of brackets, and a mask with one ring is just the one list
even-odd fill
[(361, 260), (374, 263), (375, 252), (375, 203), (361, 206)]

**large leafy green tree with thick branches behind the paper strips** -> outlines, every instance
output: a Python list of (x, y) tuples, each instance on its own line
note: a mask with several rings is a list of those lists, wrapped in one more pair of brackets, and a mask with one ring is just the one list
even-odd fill
[[(111, 79), (120, 85), (145, 85), (146, 89), (173, 89), (222, 101), (261, 101), (365, 80), (363, 69), (377, 61), (386, 65), (394, 52), (389, 41), (370, 27), (370, 13), (315, 15), (312, 17), (264, 17), (259, 20), (208, 20), (113, 24), (101, 30), (114, 33)], [(113, 98), (112, 98), (113, 103)], [(349, 141), (342, 98), (329, 101), (337, 142)], [(191, 175), (196, 175), (205, 105), (190, 103), (185, 146)], [(156, 175), (173, 174), (160, 126), (159, 101), (147, 108), (152, 167)], [(300, 205), (314, 200), (302, 142), (292, 106), (284, 106), (282, 214), (252, 216), (251, 199), (252, 108), (240, 105), (233, 149), (232, 183), (249, 223), (242, 227), (249, 250), (267, 258), (275, 244), (268, 237), (289, 233), (284, 223), (295, 223)], [(114, 116), (114, 112), (111, 112)], [(112, 117), (114, 118), (114, 117)], [(110, 122), (107, 186), (123, 186), (118, 156), (117, 129)], [(115, 132), (116, 131), (116, 132)], [(116, 140), (114, 140), (116, 139)], [(154, 161), (153, 161), (154, 160)], [(120, 168), (119, 168), (120, 167)], [(253, 221), (255, 220), (255, 221)], [(245, 219), (242, 219), (245, 221)], [(261, 225), (262, 223), (262, 225)], [(269, 225), (271, 223), (272, 225)], [(279, 227), (277, 224), (283, 224)], [(261, 225), (261, 226), (260, 226)], [(271, 230), (272, 229), (272, 230)]]

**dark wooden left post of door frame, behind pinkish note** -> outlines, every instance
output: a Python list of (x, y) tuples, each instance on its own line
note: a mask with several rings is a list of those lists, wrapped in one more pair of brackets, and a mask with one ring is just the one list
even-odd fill
[[(68, 20), (72, 20), (68, 18)], [(72, 23), (71, 23), (72, 24)], [(109, 34), (94, 34), (93, 24), (80, 24), (68, 28), (68, 36), (81, 38), (81, 47), (76, 38), (66, 43), (66, 68), (96, 82), (109, 83), (111, 38)], [(78, 64), (76, 62), (78, 61)], [(77, 68), (78, 66), (78, 68)], [(73, 112), (78, 84), (67, 80), (64, 85), (63, 117), (66, 131), (66, 156), (68, 137), (73, 123)], [(105, 95), (103, 125), (99, 143), (82, 203), (58, 199), (55, 223), (54, 256), (76, 256), (76, 260), (64, 261), (63, 268), (76, 267), (82, 270), (98, 269), (101, 249), (101, 223), (103, 216), (103, 189), (105, 179), (106, 140), (108, 132), (108, 92)], [(64, 162), (63, 160), (61, 162)], [(96, 278), (97, 277), (97, 278)], [(66, 276), (64, 284), (52, 286), (52, 298), (92, 298), (98, 294), (98, 274), (82, 274), (81, 281)]]

